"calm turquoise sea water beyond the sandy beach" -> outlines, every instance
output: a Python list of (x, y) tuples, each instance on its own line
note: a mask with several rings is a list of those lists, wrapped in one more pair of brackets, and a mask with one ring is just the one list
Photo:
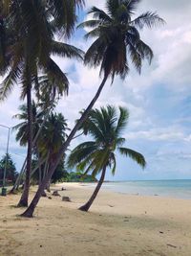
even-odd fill
[(124, 194), (191, 199), (191, 179), (106, 182), (102, 188)]

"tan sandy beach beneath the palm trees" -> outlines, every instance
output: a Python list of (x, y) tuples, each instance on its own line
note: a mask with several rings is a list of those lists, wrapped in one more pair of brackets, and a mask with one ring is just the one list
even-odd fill
[(101, 191), (84, 213), (77, 208), (92, 189), (53, 189), (62, 186), (60, 195), (72, 201), (41, 198), (33, 219), (18, 216), (20, 196), (0, 197), (0, 256), (191, 255), (191, 200)]

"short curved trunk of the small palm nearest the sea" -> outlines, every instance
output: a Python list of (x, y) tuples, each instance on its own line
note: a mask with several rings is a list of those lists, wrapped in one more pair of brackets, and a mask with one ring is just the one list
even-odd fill
[(95, 189), (95, 191), (94, 191), (92, 197), (91, 197), (84, 205), (82, 205), (81, 207), (79, 207), (79, 210), (80, 210), (80, 211), (87, 212), (87, 211), (90, 209), (90, 207), (91, 207), (91, 205), (93, 204), (94, 200), (96, 199), (96, 196), (97, 196), (97, 194), (98, 194), (98, 192), (99, 192), (99, 190), (100, 190), (100, 188), (101, 188), (101, 185), (102, 185), (102, 183), (103, 183), (103, 181), (104, 181), (105, 173), (106, 173), (106, 166), (104, 166), (104, 168), (103, 168), (103, 170), (102, 170), (100, 179), (99, 179), (99, 181), (98, 181), (98, 183), (97, 183), (97, 185), (96, 185), (96, 189)]

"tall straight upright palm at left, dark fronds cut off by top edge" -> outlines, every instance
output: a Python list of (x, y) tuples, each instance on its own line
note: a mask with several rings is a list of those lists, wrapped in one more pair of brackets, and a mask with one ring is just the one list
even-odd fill
[[(32, 88), (38, 86), (38, 72), (44, 72), (56, 84), (69, 81), (53, 61), (52, 55), (81, 58), (82, 52), (66, 43), (54, 40), (54, 33), (69, 37), (74, 30), (76, 5), (83, 1), (5, 1), (0, 11), (0, 73), (6, 75), (0, 86), (0, 98), (5, 99), (16, 82), (22, 83), (21, 98), (27, 97), (28, 153), (25, 189), (18, 203), (28, 205), (32, 169)], [(9, 8), (7, 2), (9, 2)], [(9, 9), (9, 10), (8, 10)], [(8, 12), (4, 12), (4, 11)]]

